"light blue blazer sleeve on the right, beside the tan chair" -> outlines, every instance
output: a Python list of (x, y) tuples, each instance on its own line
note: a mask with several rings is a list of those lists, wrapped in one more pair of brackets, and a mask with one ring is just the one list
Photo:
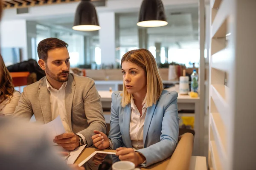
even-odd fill
[[(170, 157), (177, 146), (179, 135), (177, 96), (177, 92), (173, 91), (172, 93), (166, 95), (165, 100), (159, 101), (163, 103), (157, 104), (157, 107), (163, 107), (164, 112), (160, 142), (137, 150), (137, 152), (142, 153), (146, 158), (146, 165), (144, 165), (144, 167), (147, 167), (159, 161), (163, 161), (164, 159)], [(147, 136), (147, 138), (153, 137), (154, 136)]]

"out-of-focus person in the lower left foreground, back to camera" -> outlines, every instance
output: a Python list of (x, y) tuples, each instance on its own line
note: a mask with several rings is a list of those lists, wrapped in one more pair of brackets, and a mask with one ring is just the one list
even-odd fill
[[(0, 0), (0, 19), (2, 7)], [(0, 65), (3, 64), (0, 59)], [(84, 170), (77, 165), (65, 164), (50, 147), (47, 133), (37, 125), (0, 116), (0, 129), (1, 170)]]

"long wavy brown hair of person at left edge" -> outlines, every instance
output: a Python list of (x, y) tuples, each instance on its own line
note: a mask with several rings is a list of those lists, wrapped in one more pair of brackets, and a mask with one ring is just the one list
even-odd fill
[(12, 84), (12, 77), (7, 70), (4, 62), (3, 57), (0, 55), (0, 74), (1, 74), (1, 80), (0, 80), (0, 104), (5, 101), (6, 99), (11, 99), (13, 92), (14, 92), (14, 86)]

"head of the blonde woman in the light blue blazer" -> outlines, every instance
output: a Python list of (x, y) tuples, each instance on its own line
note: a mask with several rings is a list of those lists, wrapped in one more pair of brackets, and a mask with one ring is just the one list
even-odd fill
[(128, 51), (121, 59), (123, 74), (122, 107), (131, 103), (132, 96), (145, 96), (146, 107), (156, 104), (163, 91), (157, 62), (147, 49)]

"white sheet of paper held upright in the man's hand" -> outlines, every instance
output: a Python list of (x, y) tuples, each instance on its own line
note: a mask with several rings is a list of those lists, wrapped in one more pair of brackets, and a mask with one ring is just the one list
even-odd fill
[(55, 136), (61, 135), (66, 132), (61, 122), (60, 116), (56, 117), (56, 119), (54, 119), (53, 121), (42, 126), (48, 132), (49, 140), (50, 142), (52, 142), (52, 145), (57, 145), (53, 142), (53, 139), (55, 138)]

